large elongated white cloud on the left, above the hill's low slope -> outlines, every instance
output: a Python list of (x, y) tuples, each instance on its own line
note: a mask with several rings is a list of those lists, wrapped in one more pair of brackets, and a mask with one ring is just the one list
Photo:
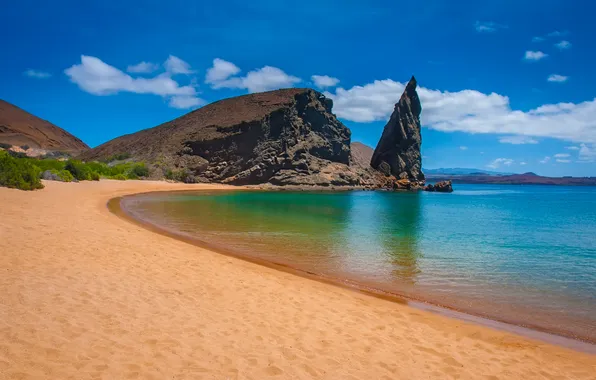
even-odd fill
[[(197, 98), (194, 86), (181, 86), (171, 78), (169, 73), (163, 73), (153, 78), (133, 78), (96, 57), (83, 55), (80, 64), (73, 65), (64, 72), (81, 90), (93, 95), (132, 92), (162, 97)], [(171, 100), (170, 104), (181, 104), (181, 101)]]

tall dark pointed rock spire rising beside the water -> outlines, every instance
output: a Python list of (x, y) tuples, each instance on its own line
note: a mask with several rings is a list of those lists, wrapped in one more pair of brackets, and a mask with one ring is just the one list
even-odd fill
[(422, 107), (412, 77), (375, 149), (370, 165), (387, 176), (410, 183), (423, 183), (420, 146), (420, 112)]

